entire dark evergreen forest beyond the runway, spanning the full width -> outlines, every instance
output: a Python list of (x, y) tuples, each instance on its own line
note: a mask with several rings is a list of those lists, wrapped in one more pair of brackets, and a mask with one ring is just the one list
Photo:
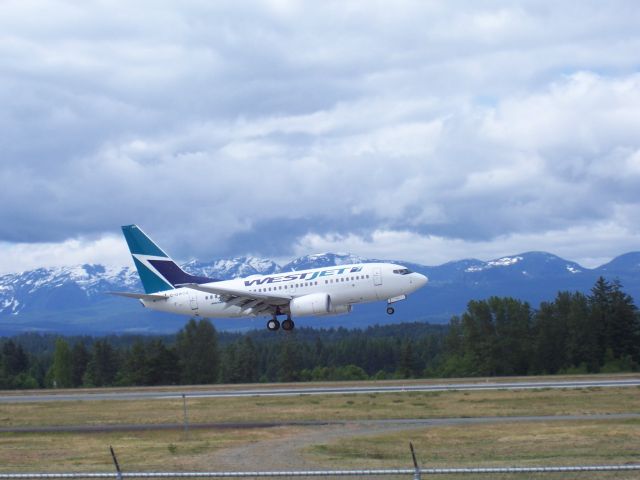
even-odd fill
[(0, 389), (359, 380), (640, 369), (640, 315), (617, 282), (560, 292), (537, 310), (471, 301), (449, 325), (216, 332), (191, 319), (175, 336), (0, 340)]

